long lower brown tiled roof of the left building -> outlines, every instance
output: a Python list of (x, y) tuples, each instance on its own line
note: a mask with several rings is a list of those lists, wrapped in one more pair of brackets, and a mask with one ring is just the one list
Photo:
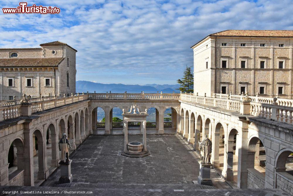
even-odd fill
[(0, 67), (58, 67), (64, 58), (2, 58)]

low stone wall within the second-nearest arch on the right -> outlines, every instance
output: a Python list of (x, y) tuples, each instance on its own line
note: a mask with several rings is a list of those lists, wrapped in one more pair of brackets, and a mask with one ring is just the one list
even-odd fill
[(259, 189), (265, 188), (265, 175), (254, 168), (247, 169), (247, 188)]

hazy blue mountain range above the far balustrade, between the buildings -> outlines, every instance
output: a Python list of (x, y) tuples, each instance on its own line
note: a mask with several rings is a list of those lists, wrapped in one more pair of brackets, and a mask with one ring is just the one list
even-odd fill
[(180, 93), (179, 90), (176, 90), (176, 88), (179, 88), (179, 84), (169, 85), (169, 84), (146, 84), (146, 85), (128, 85), (128, 84), (102, 84), (102, 83), (94, 83), (90, 81), (76, 81), (76, 92), (90, 92), (93, 93), (96, 91), (96, 93), (124, 93), (127, 91), (127, 93), (141, 93), (144, 91), (144, 93), (159, 93), (162, 91), (163, 93)]

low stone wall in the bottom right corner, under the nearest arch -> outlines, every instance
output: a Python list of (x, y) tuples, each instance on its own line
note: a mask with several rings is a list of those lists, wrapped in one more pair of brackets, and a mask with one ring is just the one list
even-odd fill
[(277, 172), (277, 187), (289, 195), (293, 195), (293, 176), (287, 172)]

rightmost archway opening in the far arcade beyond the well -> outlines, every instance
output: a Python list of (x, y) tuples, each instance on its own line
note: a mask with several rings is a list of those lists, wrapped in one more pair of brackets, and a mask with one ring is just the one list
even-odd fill
[(176, 133), (177, 111), (175, 108), (166, 108), (164, 111), (164, 133)]

